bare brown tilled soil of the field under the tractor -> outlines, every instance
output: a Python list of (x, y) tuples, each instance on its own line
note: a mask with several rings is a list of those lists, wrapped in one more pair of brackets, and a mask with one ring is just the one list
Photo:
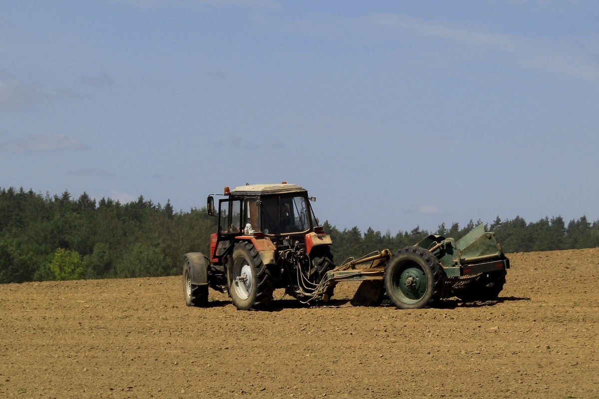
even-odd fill
[(509, 255), (497, 301), (240, 312), (180, 277), (0, 286), (0, 398), (599, 398), (599, 248)]

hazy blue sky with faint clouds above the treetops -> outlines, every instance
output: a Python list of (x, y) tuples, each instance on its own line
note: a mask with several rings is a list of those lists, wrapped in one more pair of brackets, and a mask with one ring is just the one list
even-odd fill
[(0, 187), (599, 220), (599, 1), (0, 0)]

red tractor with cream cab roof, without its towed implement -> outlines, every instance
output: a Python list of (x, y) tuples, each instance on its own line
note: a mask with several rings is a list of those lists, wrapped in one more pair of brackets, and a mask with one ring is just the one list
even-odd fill
[[(226, 291), (240, 310), (268, 306), (273, 291), (308, 303), (319, 283), (334, 268), (331, 238), (310, 206), (316, 198), (292, 184), (246, 185), (219, 200), (208, 197), (208, 213), (218, 216), (208, 256), (186, 253), (183, 291), (188, 306), (208, 301), (208, 287)], [(330, 286), (320, 300), (328, 300)]]

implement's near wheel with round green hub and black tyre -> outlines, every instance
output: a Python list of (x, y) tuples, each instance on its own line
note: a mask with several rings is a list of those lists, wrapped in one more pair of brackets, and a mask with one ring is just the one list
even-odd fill
[(385, 268), (385, 289), (398, 309), (434, 306), (443, 296), (444, 285), (440, 262), (420, 247), (399, 250)]

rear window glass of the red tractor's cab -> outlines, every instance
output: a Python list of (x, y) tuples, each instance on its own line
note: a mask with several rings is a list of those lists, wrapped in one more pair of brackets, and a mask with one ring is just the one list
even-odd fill
[(285, 234), (310, 229), (305, 197), (275, 197), (262, 200), (264, 234)]

